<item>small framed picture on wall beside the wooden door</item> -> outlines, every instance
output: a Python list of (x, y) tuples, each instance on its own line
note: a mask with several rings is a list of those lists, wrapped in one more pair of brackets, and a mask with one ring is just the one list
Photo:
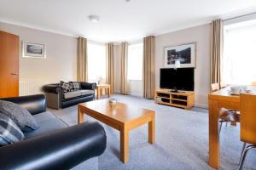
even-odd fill
[(45, 45), (43, 43), (22, 42), (22, 57), (45, 59)]

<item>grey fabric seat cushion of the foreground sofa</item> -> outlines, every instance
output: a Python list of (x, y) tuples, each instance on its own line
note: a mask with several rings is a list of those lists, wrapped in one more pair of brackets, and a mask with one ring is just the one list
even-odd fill
[(36, 121), (38, 122), (39, 128), (29, 133), (24, 133), (26, 139), (44, 134), (51, 133), (55, 130), (68, 127), (64, 122), (61, 122), (60, 119), (55, 117), (49, 111), (45, 111), (43, 113), (39, 113), (34, 116)]

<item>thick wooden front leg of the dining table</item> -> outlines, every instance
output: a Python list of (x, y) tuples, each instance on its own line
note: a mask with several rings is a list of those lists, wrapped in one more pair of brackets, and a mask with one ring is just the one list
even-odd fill
[(218, 101), (209, 99), (209, 165), (219, 168)]

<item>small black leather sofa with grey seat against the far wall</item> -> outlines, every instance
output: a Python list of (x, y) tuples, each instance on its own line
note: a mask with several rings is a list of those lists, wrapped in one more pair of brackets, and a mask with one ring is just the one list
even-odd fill
[(96, 83), (79, 82), (78, 91), (64, 93), (60, 83), (44, 85), (47, 106), (53, 109), (62, 109), (95, 99)]

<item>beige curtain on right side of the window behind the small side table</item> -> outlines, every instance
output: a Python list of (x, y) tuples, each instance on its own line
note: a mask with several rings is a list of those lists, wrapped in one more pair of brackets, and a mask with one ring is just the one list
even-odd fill
[(114, 65), (113, 65), (113, 43), (107, 43), (107, 80), (106, 82), (110, 84), (110, 93), (114, 93)]

